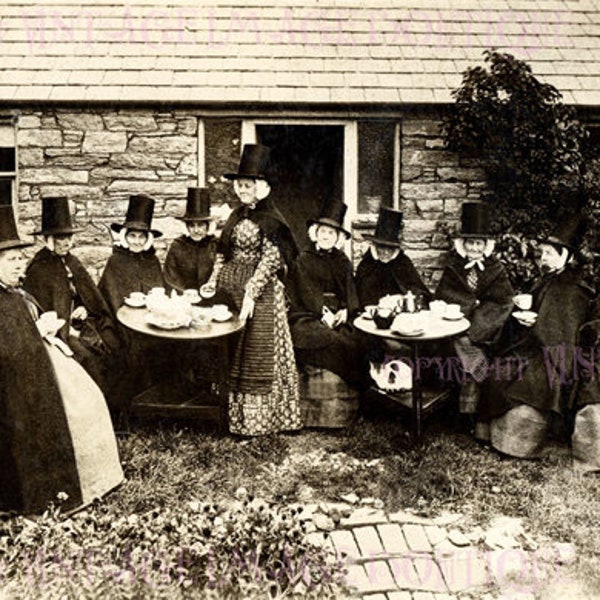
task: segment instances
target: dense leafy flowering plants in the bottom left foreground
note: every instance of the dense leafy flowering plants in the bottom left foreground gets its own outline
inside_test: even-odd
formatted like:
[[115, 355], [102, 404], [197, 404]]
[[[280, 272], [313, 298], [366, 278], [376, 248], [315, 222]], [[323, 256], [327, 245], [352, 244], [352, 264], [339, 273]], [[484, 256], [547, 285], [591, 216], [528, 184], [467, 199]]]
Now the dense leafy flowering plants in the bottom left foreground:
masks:
[[98, 507], [0, 523], [4, 590], [18, 598], [335, 598], [342, 565], [299, 508], [245, 497], [114, 517]]

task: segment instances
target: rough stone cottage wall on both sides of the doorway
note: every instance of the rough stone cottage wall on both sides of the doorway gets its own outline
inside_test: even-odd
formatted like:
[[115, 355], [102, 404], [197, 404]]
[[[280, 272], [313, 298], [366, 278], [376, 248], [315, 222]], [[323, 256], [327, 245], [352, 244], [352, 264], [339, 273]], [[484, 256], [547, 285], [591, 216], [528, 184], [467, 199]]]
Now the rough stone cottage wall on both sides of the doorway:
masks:
[[[204, 118], [191, 110], [22, 109], [21, 231], [27, 234], [39, 227], [42, 196], [67, 196], [77, 223], [85, 227], [74, 252], [98, 277], [111, 252], [108, 226], [123, 221], [129, 195], [144, 193], [157, 200], [154, 225], [165, 235], [156, 245], [163, 259], [170, 240], [184, 230], [175, 217], [183, 212], [187, 188], [197, 185], [199, 119], [204, 127], [206, 185], [213, 202], [233, 205], [231, 185], [221, 176], [237, 168], [240, 119]], [[411, 113], [402, 120], [401, 133], [404, 244], [431, 287], [439, 279], [447, 232], [456, 225], [462, 202], [479, 198], [483, 186], [479, 169], [444, 149], [440, 123], [431, 111]], [[373, 230], [375, 218], [353, 224], [350, 250], [355, 264], [367, 247], [363, 235]]]

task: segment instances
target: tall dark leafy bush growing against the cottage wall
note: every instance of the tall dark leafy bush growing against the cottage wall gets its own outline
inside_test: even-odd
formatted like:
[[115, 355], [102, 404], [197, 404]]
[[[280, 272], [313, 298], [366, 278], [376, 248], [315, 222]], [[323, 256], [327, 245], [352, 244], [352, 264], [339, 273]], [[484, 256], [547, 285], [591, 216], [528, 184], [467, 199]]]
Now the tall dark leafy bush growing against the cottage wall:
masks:
[[525, 286], [536, 273], [539, 238], [566, 215], [585, 211], [582, 142], [586, 130], [560, 92], [534, 77], [510, 54], [484, 52], [485, 67], [465, 71], [444, 119], [447, 147], [475, 157], [494, 206], [497, 249], [513, 283]]

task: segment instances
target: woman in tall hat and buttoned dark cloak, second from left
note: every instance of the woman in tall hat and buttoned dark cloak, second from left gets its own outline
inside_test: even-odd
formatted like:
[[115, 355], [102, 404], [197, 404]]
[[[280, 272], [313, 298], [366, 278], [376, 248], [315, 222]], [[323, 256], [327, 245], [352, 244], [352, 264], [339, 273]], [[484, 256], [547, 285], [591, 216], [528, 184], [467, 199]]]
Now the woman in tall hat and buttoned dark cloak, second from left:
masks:
[[45, 247], [27, 267], [23, 287], [44, 311], [56, 311], [64, 326], [60, 338], [75, 353], [76, 360], [107, 392], [107, 372], [120, 342], [110, 309], [79, 259], [71, 253], [73, 226], [65, 197], [42, 199]]

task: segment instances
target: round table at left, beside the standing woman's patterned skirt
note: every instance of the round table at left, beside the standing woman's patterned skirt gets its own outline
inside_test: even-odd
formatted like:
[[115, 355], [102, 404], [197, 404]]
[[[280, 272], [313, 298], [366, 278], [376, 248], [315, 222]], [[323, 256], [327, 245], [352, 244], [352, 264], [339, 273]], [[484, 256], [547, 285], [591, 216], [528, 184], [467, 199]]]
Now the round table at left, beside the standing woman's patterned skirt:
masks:
[[[201, 389], [199, 382], [190, 380], [183, 372], [174, 373], [173, 379], [161, 381], [139, 393], [131, 401], [131, 411], [136, 415], [201, 418], [217, 420], [223, 427], [227, 414], [229, 392], [229, 341], [233, 334], [241, 331], [245, 323], [236, 314], [228, 321], [210, 321], [201, 327], [178, 327], [160, 329], [147, 321], [147, 308], [123, 305], [117, 311], [118, 321], [128, 329], [142, 335], [160, 338], [169, 342], [200, 343], [214, 348], [215, 381], [208, 380], [208, 389]], [[202, 366], [204, 363], [202, 363]]]

